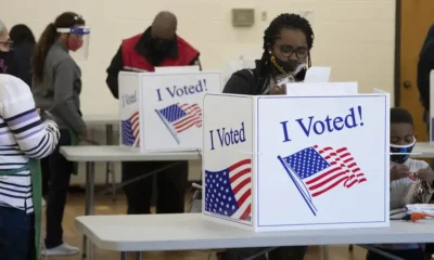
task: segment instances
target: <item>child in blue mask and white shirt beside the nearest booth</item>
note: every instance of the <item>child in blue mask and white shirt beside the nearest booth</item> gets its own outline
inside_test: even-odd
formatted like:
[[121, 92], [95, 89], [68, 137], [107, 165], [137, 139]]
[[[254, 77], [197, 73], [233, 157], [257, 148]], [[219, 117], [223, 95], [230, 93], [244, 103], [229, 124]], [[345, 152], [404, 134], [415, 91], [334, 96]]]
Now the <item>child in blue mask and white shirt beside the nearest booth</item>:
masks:
[[[408, 204], [427, 203], [432, 197], [434, 172], [424, 160], [410, 158], [416, 144], [413, 119], [404, 108], [391, 108], [391, 210], [404, 208]], [[413, 179], [416, 176], [416, 180]], [[419, 187], [422, 185], [422, 193]], [[374, 245], [382, 251], [406, 260], [424, 260], [423, 245], [388, 244]], [[369, 250], [367, 260], [387, 260]]]

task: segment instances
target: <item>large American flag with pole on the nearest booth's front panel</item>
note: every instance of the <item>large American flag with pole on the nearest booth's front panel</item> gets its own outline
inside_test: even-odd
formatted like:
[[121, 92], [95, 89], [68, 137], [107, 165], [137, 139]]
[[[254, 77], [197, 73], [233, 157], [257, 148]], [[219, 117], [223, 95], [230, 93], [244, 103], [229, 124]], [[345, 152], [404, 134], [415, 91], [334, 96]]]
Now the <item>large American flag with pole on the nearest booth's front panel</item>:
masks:
[[279, 156], [279, 159], [314, 214], [314, 197], [339, 185], [349, 188], [367, 181], [346, 147], [314, 145], [283, 158]]

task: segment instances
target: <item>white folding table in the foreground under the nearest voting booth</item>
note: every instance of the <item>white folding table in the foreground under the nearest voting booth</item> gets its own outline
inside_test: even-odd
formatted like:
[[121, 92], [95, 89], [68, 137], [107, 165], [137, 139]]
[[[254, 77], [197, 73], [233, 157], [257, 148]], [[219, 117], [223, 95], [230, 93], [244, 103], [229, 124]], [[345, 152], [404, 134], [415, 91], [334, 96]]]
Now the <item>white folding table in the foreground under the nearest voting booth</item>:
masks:
[[[99, 248], [129, 251], [197, 250], [434, 240], [434, 221], [391, 221], [390, 227], [255, 233], [205, 220], [201, 213], [77, 217], [76, 227]], [[141, 256], [141, 253], [139, 253]]]

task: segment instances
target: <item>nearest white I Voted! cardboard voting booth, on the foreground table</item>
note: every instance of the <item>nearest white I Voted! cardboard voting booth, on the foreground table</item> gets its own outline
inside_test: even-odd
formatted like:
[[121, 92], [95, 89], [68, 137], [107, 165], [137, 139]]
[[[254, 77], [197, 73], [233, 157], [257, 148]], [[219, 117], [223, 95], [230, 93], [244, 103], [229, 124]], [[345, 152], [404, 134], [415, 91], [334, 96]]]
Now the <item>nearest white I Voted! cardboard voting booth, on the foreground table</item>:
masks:
[[203, 120], [204, 218], [256, 232], [388, 226], [388, 93], [209, 93]]

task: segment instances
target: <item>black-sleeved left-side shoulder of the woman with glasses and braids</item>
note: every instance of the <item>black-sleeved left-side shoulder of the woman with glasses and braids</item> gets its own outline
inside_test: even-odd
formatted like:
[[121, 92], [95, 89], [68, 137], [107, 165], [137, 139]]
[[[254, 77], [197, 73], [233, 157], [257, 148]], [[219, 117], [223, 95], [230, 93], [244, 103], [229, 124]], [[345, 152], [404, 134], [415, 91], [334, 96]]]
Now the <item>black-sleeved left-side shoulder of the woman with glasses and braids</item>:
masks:
[[252, 94], [254, 88], [254, 77], [251, 70], [239, 70], [229, 78], [224, 88], [224, 93], [228, 94]]

